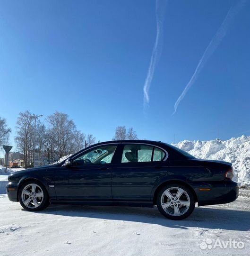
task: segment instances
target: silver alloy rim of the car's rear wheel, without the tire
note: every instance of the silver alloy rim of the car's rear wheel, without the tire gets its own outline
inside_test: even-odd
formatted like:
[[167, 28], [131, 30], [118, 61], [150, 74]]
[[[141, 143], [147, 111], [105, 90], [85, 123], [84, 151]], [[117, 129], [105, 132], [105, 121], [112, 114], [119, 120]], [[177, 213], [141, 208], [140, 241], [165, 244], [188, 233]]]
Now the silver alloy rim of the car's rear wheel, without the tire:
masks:
[[161, 206], [166, 213], [181, 216], [190, 208], [190, 197], [182, 188], [168, 188], [161, 196]]

